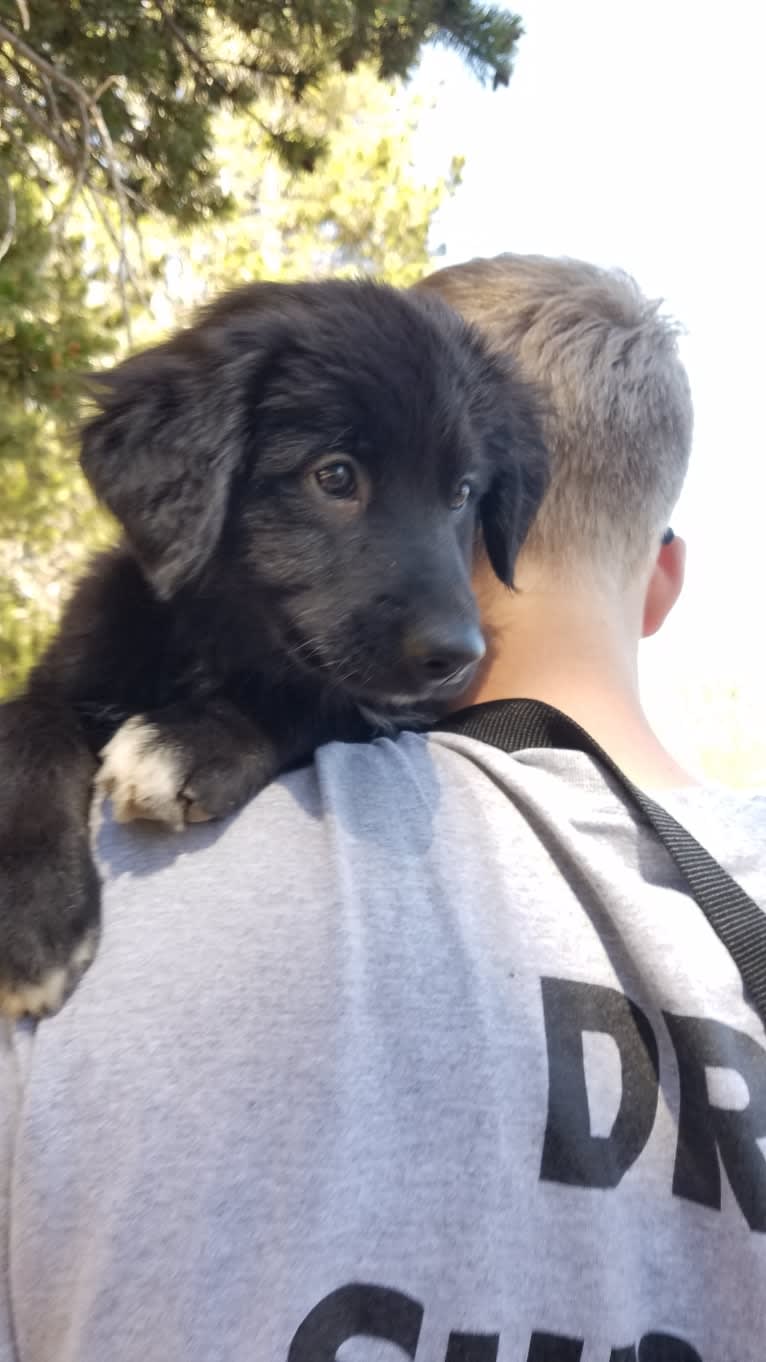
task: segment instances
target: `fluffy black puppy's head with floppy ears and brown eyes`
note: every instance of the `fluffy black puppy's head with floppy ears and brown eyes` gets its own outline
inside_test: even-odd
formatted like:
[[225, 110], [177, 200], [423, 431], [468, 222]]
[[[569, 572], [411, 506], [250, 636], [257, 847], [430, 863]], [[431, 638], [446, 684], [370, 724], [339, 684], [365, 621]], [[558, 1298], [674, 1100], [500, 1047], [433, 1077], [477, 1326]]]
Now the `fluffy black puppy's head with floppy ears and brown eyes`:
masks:
[[240, 647], [417, 706], [482, 651], [542, 496], [529, 391], [440, 300], [255, 285], [104, 380], [83, 467], [157, 594], [232, 602]]

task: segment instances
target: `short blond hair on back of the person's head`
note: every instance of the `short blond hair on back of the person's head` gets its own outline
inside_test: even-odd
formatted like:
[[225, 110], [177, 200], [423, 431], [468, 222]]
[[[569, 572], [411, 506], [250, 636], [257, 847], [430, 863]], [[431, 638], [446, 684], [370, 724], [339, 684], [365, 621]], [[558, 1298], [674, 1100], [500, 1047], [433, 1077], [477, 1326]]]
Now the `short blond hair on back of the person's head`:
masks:
[[527, 550], [634, 572], [660, 542], [691, 452], [679, 327], [627, 274], [502, 255], [429, 275], [542, 400], [551, 486]]

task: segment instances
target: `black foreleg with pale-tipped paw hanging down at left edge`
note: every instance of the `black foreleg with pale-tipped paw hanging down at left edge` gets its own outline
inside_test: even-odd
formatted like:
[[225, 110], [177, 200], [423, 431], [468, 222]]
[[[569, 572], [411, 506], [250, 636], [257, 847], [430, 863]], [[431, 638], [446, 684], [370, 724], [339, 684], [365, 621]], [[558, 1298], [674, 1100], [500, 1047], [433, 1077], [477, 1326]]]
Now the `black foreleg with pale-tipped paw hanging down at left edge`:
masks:
[[90, 854], [95, 757], [75, 712], [40, 695], [0, 706], [0, 1012], [45, 1016], [98, 945]]

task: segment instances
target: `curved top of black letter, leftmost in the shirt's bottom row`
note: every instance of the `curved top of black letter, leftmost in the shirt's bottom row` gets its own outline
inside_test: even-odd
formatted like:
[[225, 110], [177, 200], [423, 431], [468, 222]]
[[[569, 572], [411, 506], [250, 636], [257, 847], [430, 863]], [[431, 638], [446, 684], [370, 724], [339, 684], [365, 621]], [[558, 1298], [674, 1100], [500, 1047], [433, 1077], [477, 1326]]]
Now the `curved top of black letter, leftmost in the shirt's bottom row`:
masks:
[[331, 1291], [307, 1314], [290, 1343], [288, 1362], [335, 1362], [349, 1339], [372, 1337], [398, 1343], [414, 1358], [423, 1325], [423, 1306], [402, 1291], [352, 1283]]

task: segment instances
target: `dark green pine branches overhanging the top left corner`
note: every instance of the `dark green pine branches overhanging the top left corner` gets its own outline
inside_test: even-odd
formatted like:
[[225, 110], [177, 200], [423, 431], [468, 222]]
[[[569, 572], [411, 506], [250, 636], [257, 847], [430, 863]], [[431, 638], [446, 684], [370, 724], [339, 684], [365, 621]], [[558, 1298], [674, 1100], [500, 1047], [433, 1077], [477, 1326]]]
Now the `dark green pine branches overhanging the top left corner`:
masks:
[[506, 84], [519, 34], [476, 0], [0, 0], [0, 132], [25, 174], [44, 148], [95, 204], [188, 225], [232, 204], [218, 110], [247, 113], [264, 148], [311, 170], [327, 142], [296, 113], [328, 76], [405, 78], [439, 41]]

